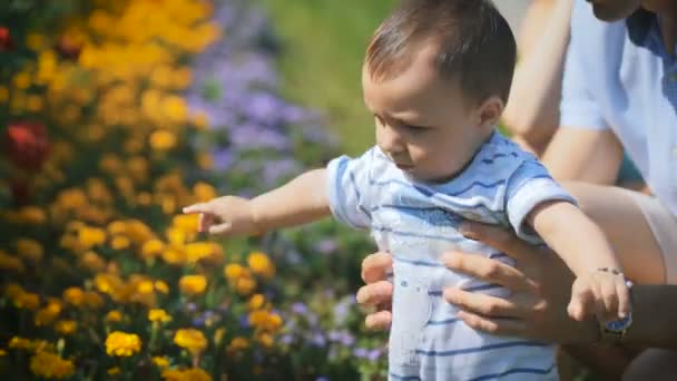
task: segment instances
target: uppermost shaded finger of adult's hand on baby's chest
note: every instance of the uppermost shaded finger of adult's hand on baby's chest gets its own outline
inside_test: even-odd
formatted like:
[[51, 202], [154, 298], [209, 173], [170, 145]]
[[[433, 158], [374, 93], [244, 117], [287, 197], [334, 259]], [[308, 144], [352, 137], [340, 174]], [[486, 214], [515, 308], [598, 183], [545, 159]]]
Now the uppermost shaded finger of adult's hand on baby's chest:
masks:
[[534, 251], [533, 246], [518, 238], [513, 233], [494, 225], [465, 222], [460, 229], [465, 237], [481, 241], [518, 260], [518, 262], [529, 258], [529, 253]]

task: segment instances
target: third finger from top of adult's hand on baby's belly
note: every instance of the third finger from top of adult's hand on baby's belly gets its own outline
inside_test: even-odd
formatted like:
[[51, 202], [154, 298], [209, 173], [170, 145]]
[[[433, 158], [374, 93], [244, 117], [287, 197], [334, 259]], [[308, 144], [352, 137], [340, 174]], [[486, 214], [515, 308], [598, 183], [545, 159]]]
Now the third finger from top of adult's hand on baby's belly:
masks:
[[502, 299], [460, 289], [444, 290], [444, 300], [460, 310], [492, 318], [526, 318], [530, 307], [513, 299]]

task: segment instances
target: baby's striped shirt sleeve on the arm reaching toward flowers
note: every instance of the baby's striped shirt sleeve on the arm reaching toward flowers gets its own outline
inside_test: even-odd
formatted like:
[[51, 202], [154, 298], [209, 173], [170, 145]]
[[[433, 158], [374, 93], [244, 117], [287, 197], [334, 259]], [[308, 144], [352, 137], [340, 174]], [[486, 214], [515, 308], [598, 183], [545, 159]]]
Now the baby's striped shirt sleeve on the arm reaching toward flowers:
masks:
[[341, 156], [327, 164], [327, 194], [332, 214], [352, 227], [366, 229], [371, 225], [369, 211], [369, 174], [373, 149], [359, 158]]

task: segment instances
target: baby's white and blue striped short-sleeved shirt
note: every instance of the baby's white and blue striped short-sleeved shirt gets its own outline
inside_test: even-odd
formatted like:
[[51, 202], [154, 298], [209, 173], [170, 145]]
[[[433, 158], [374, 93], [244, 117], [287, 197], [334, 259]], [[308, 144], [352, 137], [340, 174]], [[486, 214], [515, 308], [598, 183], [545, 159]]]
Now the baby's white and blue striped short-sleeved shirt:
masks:
[[557, 379], [552, 346], [477, 332], [442, 297], [445, 286], [507, 295], [498, 285], [455, 274], [441, 263], [441, 253], [453, 248], [514, 264], [463, 237], [461, 222], [511, 227], [523, 240], [540, 243], [524, 223], [529, 213], [547, 201], [575, 202], [531, 154], [494, 131], [455, 178], [429, 184], [411, 178], [373, 147], [355, 159], [332, 160], [327, 192], [337, 219], [370, 229], [379, 248], [393, 255], [390, 379]]

